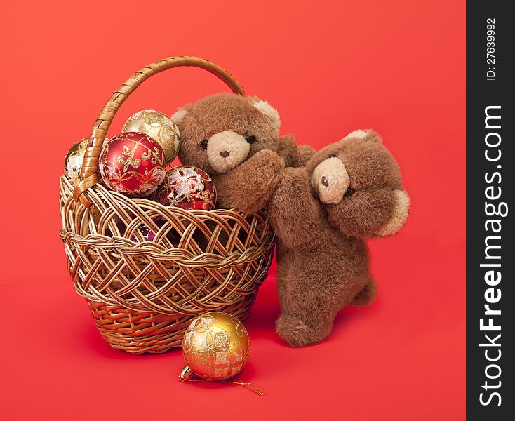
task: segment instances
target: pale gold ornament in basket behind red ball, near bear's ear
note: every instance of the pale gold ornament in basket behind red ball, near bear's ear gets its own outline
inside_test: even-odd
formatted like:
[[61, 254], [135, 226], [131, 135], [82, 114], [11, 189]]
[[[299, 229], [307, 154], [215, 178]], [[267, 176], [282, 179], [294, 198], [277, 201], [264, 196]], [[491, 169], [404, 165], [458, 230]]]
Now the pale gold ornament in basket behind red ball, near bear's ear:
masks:
[[167, 164], [173, 161], [179, 152], [179, 128], [162, 112], [153, 109], [139, 111], [128, 118], [121, 132], [149, 135], [163, 148]]

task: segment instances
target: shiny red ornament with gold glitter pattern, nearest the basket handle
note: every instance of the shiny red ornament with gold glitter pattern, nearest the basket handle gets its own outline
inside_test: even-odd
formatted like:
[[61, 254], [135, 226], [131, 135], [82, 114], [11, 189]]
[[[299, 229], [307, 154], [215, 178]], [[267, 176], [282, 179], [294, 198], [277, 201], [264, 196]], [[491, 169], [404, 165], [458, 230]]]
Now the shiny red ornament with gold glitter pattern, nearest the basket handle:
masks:
[[163, 148], [145, 133], [127, 132], [109, 140], [100, 153], [98, 168], [115, 192], [147, 196], [166, 175]]

